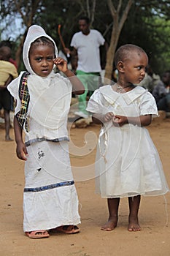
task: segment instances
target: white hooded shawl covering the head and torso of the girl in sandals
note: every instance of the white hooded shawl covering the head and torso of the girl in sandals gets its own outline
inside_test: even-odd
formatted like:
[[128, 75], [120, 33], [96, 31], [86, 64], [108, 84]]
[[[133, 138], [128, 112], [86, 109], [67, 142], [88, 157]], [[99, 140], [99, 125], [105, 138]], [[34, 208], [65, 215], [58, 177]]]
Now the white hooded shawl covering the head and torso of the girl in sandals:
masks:
[[[36, 131], [36, 133], [41, 133], [41, 135], [37, 136], [49, 138], [50, 135], [47, 135], [47, 133], [51, 129], [53, 129], [53, 132], [55, 130], [58, 132], [58, 129], [63, 129], [63, 126], [66, 124], [72, 98], [72, 83], [70, 83], [69, 79], [63, 78], [59, 73], [55, 74], [53, 70], [47, 77], [41, 77], [36, 75], [33, 69], [31, 69], [28, 58], [31, 43], [43, 36], [50, 39], [55, 45], [54, 40], [45, 33], [42, 27], [33, 25], [28, 29], [26, 41], [23, 45], [23, 61], [27, 71], [30, 73], [28, 75], [30, 102], [27, 116], [34, 119], [42, 127], [43, 132], [40, 132], [40, 130]], [[58, 49], [55, 45], [55, 55], [57, 56], [57, 54]], [[19, 78], [13, 80], [8, 86], [12, 96], [18, 102], [15, 113], [20, 110], [20, 99], [18, 99], [17, 88], [19, 87], [22, 73]], [[32, 132], [29, 131], [29, 133]]]

